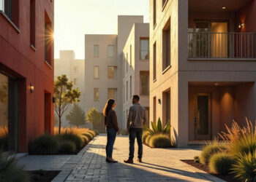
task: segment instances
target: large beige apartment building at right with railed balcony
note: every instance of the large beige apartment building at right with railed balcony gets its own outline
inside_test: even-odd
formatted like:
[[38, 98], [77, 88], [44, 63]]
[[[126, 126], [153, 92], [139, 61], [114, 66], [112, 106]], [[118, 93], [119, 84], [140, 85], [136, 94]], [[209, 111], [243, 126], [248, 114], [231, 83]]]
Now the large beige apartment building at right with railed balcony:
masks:
[[178, 147], [256, 119], [256, 1], [150, 1], [150, 118]]

